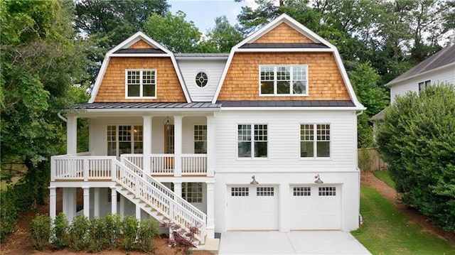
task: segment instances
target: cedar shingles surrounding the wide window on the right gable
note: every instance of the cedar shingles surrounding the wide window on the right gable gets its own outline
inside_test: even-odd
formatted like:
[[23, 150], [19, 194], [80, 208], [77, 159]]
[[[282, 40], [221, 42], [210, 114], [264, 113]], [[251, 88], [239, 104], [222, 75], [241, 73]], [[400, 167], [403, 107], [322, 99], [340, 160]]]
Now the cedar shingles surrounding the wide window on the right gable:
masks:
[[[308, 65], [308, 96], [260, 96], [259, 65]], [[235, 53], [218, 101], [350, 100], [333, 53]]]

